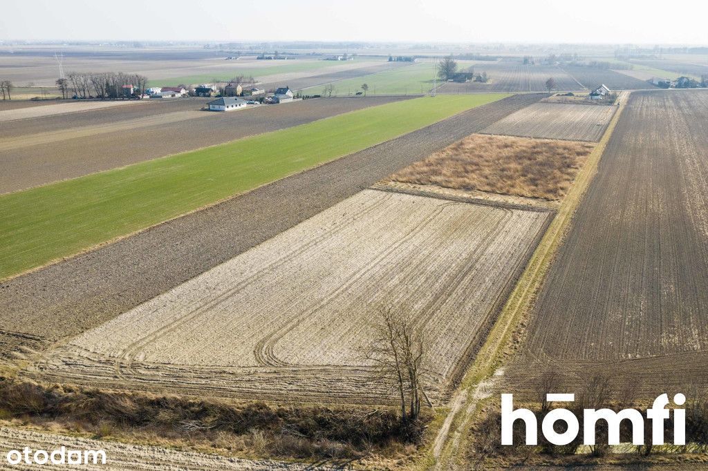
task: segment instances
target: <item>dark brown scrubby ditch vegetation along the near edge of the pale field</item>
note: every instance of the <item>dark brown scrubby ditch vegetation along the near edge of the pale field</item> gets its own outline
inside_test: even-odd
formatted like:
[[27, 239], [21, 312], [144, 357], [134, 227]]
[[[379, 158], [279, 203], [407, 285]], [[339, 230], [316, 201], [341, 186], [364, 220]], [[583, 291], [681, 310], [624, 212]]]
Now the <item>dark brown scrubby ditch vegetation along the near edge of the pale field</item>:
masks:
[[227, 402], [0, 379], [0, 419], [224, 455], [336, 460], [412, 453], [431, 417], [423, 411], [401, 423], [385, 407]]

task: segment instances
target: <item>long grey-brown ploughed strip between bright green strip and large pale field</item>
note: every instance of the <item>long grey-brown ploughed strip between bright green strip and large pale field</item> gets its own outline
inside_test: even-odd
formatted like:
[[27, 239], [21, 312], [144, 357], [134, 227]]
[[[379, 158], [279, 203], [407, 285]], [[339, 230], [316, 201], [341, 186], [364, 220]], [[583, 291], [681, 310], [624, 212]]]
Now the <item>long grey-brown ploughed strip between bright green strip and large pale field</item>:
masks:
[[[101, 325], [535, 103], [516, 95], [0, 284], [0, 357]], [[11, 353], [14, 352], [14, 353]]]

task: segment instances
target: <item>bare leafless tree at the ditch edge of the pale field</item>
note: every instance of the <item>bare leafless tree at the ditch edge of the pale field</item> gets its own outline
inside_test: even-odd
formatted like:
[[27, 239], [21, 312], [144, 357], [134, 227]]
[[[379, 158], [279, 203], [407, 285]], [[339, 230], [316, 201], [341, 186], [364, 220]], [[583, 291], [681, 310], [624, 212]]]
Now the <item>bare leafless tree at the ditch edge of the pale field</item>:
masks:
[[376, 366], [376, 382], [389, 383], [401, 401], [401, 421], [416, 419], [421, 412], [421, 395], [430, 405], [421, 373], [425, 355], [423, 335], [402, 310], [382, 308], [374, 337], [365, 351]]

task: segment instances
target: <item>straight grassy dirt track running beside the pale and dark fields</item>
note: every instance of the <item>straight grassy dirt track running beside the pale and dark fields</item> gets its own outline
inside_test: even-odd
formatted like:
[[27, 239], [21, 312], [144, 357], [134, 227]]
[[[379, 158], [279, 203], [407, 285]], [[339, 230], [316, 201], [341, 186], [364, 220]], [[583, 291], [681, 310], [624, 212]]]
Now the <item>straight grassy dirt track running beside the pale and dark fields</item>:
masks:
[[479, 396], [479, 387], [484, 380], [488, 380], [494, 375], [505, 359], [513, 354], [515, 349], [510, 345], [510, 340], [515, 327], [530, 313], [551, 262], [569, 231], [573, 214], [588, 190], [590, 182], [598, 172], [600, 158], [615, 130], [619, 117], [622, 115], [629, 94], [629, 91], [623, 91], [617, 98], [619, 101], [618, 110], [612, 116], [610, 124], [607, 125], [603, 138], [600, 139], [598, 145], [590, 153], [586, 165], [578, 173], [570, 192], [561, 202], [556, 216], [542, 236], [523, 274], [501, 310], [484, 346], [477, 354], [474, 363], [467, 369], [462, 384], [450, 401], [450, 412], [435, 437], [428, 457], [424, 463], [421, 463], [424, 468], [455, 469], [460, 464], [457, 454], [459, 450], [464, 448], [460, 445], [466, 441], [465, 434], [469, 431], [469, 426], [474, 419], [478, 405], [476, 397]]

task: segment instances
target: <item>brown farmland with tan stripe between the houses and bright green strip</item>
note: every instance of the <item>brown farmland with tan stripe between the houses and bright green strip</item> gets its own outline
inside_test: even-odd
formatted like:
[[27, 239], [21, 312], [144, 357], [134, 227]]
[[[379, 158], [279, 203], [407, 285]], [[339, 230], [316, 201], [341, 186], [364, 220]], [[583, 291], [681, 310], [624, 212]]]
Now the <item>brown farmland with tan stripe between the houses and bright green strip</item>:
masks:
[[[135, 107], [136, 112], [116, 113], [115, 117], [110, 115], [110, 110], [46, 117], [38, 120], [38, 124], [41, 123], [47, 131], [35, 134], [30, 132], [34, 120], [16, 122], [13, 133], [21, 135], [0, 138], [0, 165], [3, 168], [0, 193], [222, 144], [403, 99], [322, 98], [232, 112], [198, 111], [206, 100], [184, 99], [171, 103], [146, 103]], [[128, 108], [132, 107], [122, 107], [121, 111]], [[97, 115], [92, 120], [94, 112]]]

